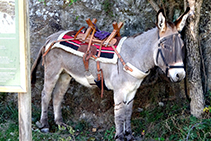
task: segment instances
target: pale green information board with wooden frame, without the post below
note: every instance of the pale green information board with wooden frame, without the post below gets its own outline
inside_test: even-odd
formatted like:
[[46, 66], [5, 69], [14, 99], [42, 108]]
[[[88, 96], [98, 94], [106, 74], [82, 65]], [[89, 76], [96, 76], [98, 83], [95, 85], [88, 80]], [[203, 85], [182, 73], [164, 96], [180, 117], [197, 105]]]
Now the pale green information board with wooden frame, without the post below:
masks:
[[23, 0], [0, 0], [0, 92], [26, 92], [26, 19]]

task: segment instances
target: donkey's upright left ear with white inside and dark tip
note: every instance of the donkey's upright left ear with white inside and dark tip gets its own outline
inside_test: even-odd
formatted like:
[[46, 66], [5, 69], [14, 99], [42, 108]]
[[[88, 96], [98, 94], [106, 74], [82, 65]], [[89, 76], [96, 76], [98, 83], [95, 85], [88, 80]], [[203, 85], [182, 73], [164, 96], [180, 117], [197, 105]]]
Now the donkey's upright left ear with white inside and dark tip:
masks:
[[156, 23], [158, 29], [163, 32], [166, 30], [166, 17], [164, 15], [164, 10], [160, 9], [157, 13], [157, 23]]

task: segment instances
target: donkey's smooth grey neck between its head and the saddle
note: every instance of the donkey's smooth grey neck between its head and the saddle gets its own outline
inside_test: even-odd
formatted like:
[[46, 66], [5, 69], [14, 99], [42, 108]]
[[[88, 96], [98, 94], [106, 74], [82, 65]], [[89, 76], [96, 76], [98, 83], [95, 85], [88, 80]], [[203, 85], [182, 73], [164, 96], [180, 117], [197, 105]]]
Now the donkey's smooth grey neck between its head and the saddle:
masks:
[[157, 33], [158, 29], [153, 28], [141, 35], [126, 39], [121, 51], [123, 59], [143, 72], [153, 68], [157, 51]]

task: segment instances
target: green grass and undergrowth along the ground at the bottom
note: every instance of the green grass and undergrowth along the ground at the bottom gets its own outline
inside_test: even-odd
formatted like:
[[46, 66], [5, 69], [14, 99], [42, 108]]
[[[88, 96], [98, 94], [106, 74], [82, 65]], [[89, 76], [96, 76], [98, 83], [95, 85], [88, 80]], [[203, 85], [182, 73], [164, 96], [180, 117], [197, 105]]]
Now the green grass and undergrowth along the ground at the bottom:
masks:
[[[4, 102], [5, 95], [0, 97], [0, 141], [18, 141], [18, 107], [14, 101]], [[144, 140], [158, 141], [211, 141], [211, 108], [205, 109], [202, 118], [190, 115], [188, 103], [178, 104], [175, 101], [167, 102], [164, 107], [153, 105], [140, 113], [134, 113], [131, 121], [135, 137], [143, 136]], [[35, 121], [39, 119], [40, 110], [32, 105], [32, 139], [33, 141], [112, 141], [115, 127], [106, 131], [92, 131], [86, 121], [73, 123], [64, 117], [67, 129], [58, 128], [50, 121], [51, 132], [41, 133]]]

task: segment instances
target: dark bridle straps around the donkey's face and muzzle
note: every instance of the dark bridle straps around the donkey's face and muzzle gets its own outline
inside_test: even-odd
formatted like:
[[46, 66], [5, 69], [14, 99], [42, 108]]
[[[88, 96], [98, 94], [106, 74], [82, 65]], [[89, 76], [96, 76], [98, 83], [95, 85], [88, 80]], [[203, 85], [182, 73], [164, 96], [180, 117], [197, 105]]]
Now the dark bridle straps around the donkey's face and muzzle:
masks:
[[[175, 69], [175, 68], [184, 68], [184, 65], [181, 65], [181, 66], [172, 66], [172, 65], [169, 65], [169, 64], [167, 63], [167, 61], [166, 61], [165, 56], [163, 55], [161, 44], [163, 44], [163, 42], [166, 41], [167, 39], [170, 39], [172, 36], [173, 36], [173, 39], [174, 39], [175, 36], [176, 36], [176, 37], [180, 37], [180, 34], [176, 33], [176, 34], [172, 34], [172, 35], [166, 36], [166, 37], [162, 38], [162, 39], [160, 40], [160, 43], [158, 44], [158, 52], [157, 52], [156, 62], [157, 62], [157, 64], [158, 64], [158, 57], [159, 57], [159, 54], [160, 54], [160, 55], [161, 55], [161, 58], [162, 58], [162, 60], [163, 60], [163, 62], [164, 62], [165, 65], [166, 65], [166, 76], [168, 76], [168, 71], [169, 71], [169, 69], [171, 69], [171, 68], [173, 68], [173, 69]], [[158, 33], [158, 39], [159, 39], [159, 38], [160, 38], [160, 37], [159, 37], [159, 33]], [[172, 46], [173, 46], [174, 48], [176, 48], [176, 46], [175, 46], [175, 40], [173, 40], [173, 45], [172, 45]], [[177, 52], [175, 52], [175, 56], [176, 56], [176, 53], [177, 53]], [[176, 57], [175, 57], [175, 62], [176, 62]]]

